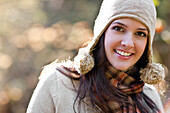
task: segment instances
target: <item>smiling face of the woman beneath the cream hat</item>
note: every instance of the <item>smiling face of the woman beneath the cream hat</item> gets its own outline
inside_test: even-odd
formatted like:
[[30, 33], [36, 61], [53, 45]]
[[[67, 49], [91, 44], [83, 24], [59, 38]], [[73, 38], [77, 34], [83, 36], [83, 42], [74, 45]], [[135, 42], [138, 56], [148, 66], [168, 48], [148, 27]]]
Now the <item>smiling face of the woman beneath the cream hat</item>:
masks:
[[127, 70], [144, 53], [148, 35], [148, 29], [135, 19], [121, 18], [113, 21], [104, 39], [108, 61], [118, 70]]

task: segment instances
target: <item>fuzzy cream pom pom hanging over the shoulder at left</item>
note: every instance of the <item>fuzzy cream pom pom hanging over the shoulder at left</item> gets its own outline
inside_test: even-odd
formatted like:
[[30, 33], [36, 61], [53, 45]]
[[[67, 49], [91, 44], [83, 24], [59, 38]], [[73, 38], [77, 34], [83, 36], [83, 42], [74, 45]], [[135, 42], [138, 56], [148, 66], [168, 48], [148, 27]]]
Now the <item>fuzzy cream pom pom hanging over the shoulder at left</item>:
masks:
[[80, 74], [86, 74], [94, 67], [94, 58], [85, 50], [79, 49], [78, 55], [74, 58], [74, 68]]

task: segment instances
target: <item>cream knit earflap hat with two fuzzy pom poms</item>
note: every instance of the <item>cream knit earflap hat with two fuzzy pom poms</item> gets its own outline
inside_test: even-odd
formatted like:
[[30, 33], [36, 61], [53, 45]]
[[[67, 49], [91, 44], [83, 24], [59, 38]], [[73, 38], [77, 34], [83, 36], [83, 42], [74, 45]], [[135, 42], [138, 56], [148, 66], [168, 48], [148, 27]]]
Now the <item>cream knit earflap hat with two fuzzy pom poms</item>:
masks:
[[88, 73], [94, 67], [92, 50], [108, 26], [119, 18], [133, 18], [143, 23], [149, 30], [147, 56], [149, 63], [141, 69], [141, 79], [145, 83], [156, 84], [165, 77], [164, 68], [152, 63], [152, 42], [155, 34], [156, 9], [153, 0], [103, 0], [94, 25], [94, 37], [87, 47], [80, 48], [74, 58], [74, 68], [80, 74]]

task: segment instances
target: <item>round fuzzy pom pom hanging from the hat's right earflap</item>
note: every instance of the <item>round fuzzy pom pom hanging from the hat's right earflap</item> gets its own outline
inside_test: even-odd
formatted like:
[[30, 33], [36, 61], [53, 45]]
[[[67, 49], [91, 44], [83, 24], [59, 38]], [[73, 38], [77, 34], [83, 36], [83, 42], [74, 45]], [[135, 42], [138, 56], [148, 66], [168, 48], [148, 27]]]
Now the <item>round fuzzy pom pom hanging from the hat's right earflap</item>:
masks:
[[164, 68], [158, 63], [149, 63], [140, 73], [141, 80], [148, 84], [158, 84], [165, 78]]

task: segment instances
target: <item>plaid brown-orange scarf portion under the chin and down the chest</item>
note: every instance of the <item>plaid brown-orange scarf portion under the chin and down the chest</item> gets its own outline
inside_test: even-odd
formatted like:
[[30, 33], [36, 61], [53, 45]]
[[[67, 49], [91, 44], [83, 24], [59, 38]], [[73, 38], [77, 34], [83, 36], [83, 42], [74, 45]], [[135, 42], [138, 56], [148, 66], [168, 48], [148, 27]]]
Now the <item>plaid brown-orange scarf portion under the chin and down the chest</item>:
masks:
[[143, 90], [144, 83], [142, 81], [136, 81], [133, 77], [129, 76], [128, 73], [130, 73], [130, 71], [122, 72], [116, 70], [111, 65], [108, 65], [106, 68], [105, 74], [107, 79], [110, 81], [110, 84], [119, 91], [127, 94], [128, 101], [131, 103], [127, 104], [117, 101], [109, 101], [108, 104], [112, 113], [134, 113], [132, 105], [136, 108], [135, 112], [140, 113], [130, 95], [139, 94]]

